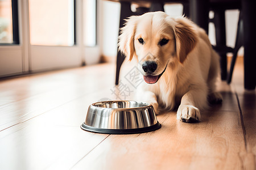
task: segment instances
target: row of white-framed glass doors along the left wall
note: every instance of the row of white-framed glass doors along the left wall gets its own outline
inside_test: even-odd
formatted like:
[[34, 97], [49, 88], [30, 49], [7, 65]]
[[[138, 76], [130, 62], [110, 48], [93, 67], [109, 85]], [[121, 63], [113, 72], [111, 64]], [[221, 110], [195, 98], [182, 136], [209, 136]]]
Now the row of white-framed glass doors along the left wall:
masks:
[[0, 77], [98, 63], [96, 5], [96, 0], [1, 0]]

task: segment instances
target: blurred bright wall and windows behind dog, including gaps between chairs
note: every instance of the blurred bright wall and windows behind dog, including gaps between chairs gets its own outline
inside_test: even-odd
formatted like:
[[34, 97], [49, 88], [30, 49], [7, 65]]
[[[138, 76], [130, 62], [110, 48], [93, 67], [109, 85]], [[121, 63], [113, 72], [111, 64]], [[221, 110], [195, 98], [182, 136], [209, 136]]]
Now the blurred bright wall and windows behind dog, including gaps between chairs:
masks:
[[[180, 16], [183, 5], [167, 4], [164, 11]], [[226, 45], [232, 48], [239, 12], [225, 11]], [[0, 0], [0, 77], [115, 62], [119, 15], [120, 4], [111, 1]], [[213, 45], [214, 29], [209, 23]]]

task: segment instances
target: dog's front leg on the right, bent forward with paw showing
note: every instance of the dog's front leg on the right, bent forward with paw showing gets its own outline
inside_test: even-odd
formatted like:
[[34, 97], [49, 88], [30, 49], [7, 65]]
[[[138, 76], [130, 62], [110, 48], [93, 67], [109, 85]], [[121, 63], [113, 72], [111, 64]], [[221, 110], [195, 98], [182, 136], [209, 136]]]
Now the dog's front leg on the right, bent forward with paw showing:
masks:
[[199, 108], [207, 106], [207, 87], [192, 88], [182, 98], [177, 110], [177, 119], [184, 122], [200, 120]]

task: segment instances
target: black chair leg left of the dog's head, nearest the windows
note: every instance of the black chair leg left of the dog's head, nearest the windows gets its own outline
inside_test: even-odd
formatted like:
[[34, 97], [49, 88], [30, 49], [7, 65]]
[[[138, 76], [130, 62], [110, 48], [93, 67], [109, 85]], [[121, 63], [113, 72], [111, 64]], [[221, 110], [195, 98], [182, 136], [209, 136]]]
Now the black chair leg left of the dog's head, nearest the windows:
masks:
[[[121, 11], [120, 11], [120, 22], [119, 28], [123, 27], [125, 20], [127, 17], [131, 16], [133, 12], [131, 11], [131, 3], [130, 2], [120, 2], [121, 3]], [[120, 35], [120, 30], [119, 30]], [[125, 60], [125, 56], [117, 50], [117, 70], [115, 72], [115, 85], [118, 85], [119, 82], [119, 73], [122, 66], [123, 61]]]

